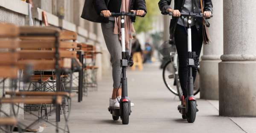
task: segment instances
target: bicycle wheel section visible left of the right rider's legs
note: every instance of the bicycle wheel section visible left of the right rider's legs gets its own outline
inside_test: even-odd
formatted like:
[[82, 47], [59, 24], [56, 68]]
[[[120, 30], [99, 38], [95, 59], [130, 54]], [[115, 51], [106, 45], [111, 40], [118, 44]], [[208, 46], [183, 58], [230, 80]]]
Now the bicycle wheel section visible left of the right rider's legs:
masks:
[[166, 85], [166, 87], [169, 89], [169, 91], [171, 91], [172, 93], [178, 96], [177, 89], [174, 88], [174, 85], [175, 85], [174, 78], [175, 78], [174, 67], [173, 67], [172, 61], [170, 60], [163, 67], [163, 82]]

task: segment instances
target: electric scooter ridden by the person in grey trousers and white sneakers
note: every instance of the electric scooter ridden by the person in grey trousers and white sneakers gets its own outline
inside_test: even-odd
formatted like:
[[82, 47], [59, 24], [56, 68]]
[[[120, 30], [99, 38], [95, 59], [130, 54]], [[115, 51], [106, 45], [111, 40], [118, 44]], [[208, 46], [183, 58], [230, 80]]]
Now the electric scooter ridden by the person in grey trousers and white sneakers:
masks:
[[[104, 15], [100, 14], [100, 16], [103, 17]], [[113, 120], [118, 120], [120, 116], [120, 118], [122, 119], [122, 124], [128, 125], [129, 116], [131, 115], [131, 101], [128, 97], [126, 69], [127, 67], [133, 66], [134, 62], [132, 60], [132, 57], [130, 56], [130, 53], [125, 51], [125, 16], [135, 17], [136, 12], [111, 13], [111, 17], [121, 17], [122, 59], [120, 60], [120, 65], [122, 67], [122, 96], [119, 101], [119, 108], [109, 107], [108, 111], [112, 114]]]

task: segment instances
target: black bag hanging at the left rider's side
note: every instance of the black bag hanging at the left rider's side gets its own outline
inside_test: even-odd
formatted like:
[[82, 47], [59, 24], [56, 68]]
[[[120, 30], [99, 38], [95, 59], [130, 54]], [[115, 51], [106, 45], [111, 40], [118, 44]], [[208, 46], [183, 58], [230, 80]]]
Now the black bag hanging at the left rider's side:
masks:
[[100, 17], [95, 8], [95, 0], [85, 0], [81, 18], [96, 23], [108, 23], [108, 18]]

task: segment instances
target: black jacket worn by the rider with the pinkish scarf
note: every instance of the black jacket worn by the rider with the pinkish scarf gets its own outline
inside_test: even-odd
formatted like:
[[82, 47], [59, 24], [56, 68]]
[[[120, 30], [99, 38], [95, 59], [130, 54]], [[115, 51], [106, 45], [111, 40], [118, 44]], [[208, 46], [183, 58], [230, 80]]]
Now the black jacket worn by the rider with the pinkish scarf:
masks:
[[[98, 14], [103, 10], [108, 10], [109, 0], [95, 0], [95, 8]], [[145, 0], [131, 0], [130, 1], [130, 10], [144, 10], [147, 12]], [[144, 16], [143, 16], [144, 17]], [[136, 17], [131, 17], [131, 21], [135, 22]]]

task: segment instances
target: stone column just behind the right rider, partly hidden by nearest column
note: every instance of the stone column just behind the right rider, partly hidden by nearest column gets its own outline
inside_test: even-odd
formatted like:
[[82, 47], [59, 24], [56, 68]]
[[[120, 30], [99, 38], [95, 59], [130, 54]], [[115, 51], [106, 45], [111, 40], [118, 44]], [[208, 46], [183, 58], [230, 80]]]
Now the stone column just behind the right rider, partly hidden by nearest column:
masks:
[[218, 63], [223, 54], [223, 0], [213, 0], [213, 17], [209, 19], [212, 42], [204, 45], [200, 64], [200, 98], [218, 99]]

